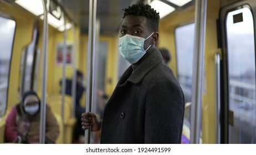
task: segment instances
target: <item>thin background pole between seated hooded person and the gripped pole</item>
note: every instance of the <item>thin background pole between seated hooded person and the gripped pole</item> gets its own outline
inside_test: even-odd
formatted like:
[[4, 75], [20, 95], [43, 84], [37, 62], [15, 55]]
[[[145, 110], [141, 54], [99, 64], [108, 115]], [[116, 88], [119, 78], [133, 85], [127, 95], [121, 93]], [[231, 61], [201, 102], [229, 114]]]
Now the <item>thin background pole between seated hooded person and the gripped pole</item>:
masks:
[[65, 105], [65, 94], [66, 94], [66, 19], [65, 15], [62, 12], [62, 16], [64, 19], [64, 32], [63, 32], [63, 55], [62, 55], [62, 63], [63, 63], [63, 71], [62, 71], [62, 120], [63, 120], [63, 137], [65, 139], [65, 128], [64, 128], [64, 105]]

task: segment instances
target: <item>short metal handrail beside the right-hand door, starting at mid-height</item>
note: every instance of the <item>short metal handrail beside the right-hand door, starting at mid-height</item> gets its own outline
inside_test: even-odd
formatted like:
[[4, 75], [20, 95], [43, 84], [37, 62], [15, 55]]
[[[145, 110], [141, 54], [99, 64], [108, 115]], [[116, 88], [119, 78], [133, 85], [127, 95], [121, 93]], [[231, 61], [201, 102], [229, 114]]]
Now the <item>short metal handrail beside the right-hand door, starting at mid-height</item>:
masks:
[[215, 61], [215, 139], [216, 143], [221, 143], [221, 64], [220, 64], [220, 56], [217, 53], [214, 57]]

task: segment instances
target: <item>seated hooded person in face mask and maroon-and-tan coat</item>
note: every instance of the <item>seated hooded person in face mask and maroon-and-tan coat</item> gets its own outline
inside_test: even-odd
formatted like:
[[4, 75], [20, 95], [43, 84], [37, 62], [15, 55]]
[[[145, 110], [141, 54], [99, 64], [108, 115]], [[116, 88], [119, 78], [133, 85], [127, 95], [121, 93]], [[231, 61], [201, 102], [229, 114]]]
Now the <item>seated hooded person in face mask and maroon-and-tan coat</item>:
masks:
[[[8, 142], [39, 143], [39, 133], [40, 100], [34, 91], [28, 91], [22, 96], [22, 101], [9, 113], [5, 136]], [[45, 143], [55, 143], [58, 135], [57, 120], [47, 105]]]

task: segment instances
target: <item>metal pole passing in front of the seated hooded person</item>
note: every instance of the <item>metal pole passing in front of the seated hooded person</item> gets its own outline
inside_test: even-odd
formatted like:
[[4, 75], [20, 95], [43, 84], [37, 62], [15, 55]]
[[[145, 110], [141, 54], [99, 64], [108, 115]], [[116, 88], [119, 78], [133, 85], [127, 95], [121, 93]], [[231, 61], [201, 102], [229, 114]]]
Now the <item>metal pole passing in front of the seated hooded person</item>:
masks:
[[46, 0], [42, 0], [44, 8], [43, 22], [43, 59], [42, 59], [42, 96], [40, 105], [40, 143], [45, 143], [45, 115], [46, 115], [46, 88], [47, 88], [47, 53], [48, 53], [48, 8]]

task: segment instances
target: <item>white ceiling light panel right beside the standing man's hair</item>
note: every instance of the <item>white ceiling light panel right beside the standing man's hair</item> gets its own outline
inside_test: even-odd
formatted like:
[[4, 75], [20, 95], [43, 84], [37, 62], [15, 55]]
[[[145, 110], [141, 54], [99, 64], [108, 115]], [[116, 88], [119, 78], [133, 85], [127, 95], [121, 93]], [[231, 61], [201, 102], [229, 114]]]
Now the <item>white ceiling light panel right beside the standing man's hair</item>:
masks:
[[170, 14], [171, 12], [175, 11], [175, 8], [172, 6], [169, 6], [166, 3], [163, 3], [159, 0], [154, 0], [150, 3], [150, 6], [156, 10], [156, 12], [159, 12], [160, 18], [165, 17], [167, 14]]

